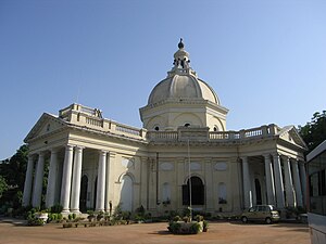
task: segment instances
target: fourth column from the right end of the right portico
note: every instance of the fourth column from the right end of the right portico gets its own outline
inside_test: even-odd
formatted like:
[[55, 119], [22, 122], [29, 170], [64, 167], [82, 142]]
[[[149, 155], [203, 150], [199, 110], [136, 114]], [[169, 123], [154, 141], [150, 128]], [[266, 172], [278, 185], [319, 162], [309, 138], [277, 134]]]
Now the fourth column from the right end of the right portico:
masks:
[[275, 190], [276, 190], [276, 206], [278, 208], [285, 207], [284, 197], [284, 183], [280, 168], [279, 155], [276, 153], [273, 155], [274, 172], [275, 172]]

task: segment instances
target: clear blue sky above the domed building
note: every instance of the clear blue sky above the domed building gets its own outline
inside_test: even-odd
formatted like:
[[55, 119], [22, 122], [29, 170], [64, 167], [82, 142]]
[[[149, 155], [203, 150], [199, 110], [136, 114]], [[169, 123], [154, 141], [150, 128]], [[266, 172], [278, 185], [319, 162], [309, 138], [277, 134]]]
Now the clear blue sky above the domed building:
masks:
[[326, 110], [325, 13], [324, 0], [0, 0], [0, 159], [72, 103], [140, 128], [179, 38], [227, 130], [304, 126]]

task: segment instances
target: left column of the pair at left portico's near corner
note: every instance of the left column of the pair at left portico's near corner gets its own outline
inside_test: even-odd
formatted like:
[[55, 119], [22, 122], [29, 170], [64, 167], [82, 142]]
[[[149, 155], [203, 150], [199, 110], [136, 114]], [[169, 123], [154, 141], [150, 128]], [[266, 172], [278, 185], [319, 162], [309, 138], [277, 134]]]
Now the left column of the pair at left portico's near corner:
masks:
[[62, 213], [70, 213], [73, 152], [74, 152], [74, 146], [66, 145], [63, 170], [62, 170], [61, 201], [60, 201], [61, 205], [63, 206]]

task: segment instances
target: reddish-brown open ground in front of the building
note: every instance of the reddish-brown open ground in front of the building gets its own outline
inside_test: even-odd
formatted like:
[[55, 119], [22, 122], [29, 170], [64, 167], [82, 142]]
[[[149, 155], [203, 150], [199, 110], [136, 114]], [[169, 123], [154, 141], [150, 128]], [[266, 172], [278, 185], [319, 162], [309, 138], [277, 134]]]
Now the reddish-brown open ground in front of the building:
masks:
[[0, 243], [113, 243], [113, 244], [308, 244], [306, 224], [242, 224], [241, 222], [211, 222], [209, 232], [197, 235], [173, 235], [166, 223], [141, 223], [114, 227], [68, 228], [62, 224], [26, 227], [8, 219], [0, 220]]

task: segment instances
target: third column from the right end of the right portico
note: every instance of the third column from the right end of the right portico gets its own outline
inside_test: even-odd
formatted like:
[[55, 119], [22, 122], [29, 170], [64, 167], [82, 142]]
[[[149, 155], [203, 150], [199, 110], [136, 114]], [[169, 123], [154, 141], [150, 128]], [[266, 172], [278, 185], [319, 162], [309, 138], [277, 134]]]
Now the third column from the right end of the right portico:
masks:
[[296, 200], [294, 200], [294, 192], [293, 192], [293, 181], [291, 175], [291, 167], [290, 167], [290, 159], [288, 156], [283, 155], [283, 165], [284, 165], [284, 178], [285, 178], [285, 190], [286, 190], [286, 202], [287, 206], [294, 207]]

